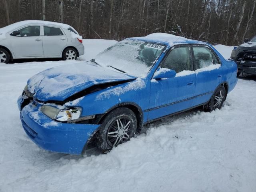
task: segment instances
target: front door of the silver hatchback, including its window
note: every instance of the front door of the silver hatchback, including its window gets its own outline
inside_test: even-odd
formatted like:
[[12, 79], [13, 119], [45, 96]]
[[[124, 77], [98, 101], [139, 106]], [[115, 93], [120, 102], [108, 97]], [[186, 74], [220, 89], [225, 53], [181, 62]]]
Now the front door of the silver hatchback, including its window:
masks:
[[23, 27], [10, 34], [12, 50], [15, 57], [43, 57], [41, 26]]

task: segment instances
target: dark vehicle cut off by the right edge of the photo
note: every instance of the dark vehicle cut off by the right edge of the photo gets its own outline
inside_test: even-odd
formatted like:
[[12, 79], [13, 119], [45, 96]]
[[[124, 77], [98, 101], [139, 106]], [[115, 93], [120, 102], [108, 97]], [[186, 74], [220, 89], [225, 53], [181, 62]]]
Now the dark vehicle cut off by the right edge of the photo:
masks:
[[234, 47], [230, 59], [237, 64], [237, 76], [241, 72], [256, 75], [256, 36], [251, 40], [245, 39], [244, 44]]

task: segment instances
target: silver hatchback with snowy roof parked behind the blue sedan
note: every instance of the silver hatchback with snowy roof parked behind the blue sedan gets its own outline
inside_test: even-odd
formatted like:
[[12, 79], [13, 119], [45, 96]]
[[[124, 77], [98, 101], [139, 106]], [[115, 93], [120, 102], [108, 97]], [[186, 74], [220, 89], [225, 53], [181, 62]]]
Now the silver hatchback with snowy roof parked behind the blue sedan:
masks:
[[0, 63], [23, 58], [71, 60], [83, 54], [82, 36], [67, 24], [26, 20], [0, 28]]

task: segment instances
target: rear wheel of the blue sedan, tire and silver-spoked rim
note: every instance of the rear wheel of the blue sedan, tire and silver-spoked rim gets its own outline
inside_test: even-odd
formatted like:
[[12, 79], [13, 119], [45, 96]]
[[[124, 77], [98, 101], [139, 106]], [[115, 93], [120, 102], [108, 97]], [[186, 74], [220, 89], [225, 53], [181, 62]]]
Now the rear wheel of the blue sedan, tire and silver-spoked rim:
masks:
[[220, 109], [226, 98], [226, 89], [224, 86], [220, 86], [212, 95], [208, 104], [204, 106], [205, 112], [212, 112], [216, 108]]

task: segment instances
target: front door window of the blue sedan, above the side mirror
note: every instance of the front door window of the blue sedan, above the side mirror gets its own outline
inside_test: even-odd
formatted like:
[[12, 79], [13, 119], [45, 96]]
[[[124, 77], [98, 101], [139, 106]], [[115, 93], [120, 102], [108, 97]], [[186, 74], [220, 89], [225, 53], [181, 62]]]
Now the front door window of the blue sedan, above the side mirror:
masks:
[[162, 62], [161, 67], [174, 70], [176, 73], [191, 70], [190, 58], [189, 46], [174, 48]]

